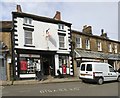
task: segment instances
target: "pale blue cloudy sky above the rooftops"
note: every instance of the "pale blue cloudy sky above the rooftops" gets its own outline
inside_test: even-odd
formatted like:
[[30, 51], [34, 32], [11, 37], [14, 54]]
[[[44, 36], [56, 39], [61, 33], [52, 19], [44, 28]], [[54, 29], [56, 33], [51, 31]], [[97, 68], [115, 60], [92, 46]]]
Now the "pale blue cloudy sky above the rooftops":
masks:
[[12, 11], [20, 4], [25, 13], [53, 18], [61, 12], [63, 21], [72, 23], [72, 29], [82, 31], [84, 25], [92, 26], [93, 35], [101, 29], [109, 39], [118, 37], [118, 0], [1, 0], [0, 20], [12, 20]]

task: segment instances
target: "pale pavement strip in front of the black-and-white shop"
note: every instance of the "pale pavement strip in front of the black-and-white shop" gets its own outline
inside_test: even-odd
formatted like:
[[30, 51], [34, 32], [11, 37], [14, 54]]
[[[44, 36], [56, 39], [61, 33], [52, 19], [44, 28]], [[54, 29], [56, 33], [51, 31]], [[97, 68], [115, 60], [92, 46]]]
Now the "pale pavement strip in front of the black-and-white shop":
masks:
[[79, 77], [65, 77], [65, 78], [53, 78], [53, 77], [47, 77], [46, 79], [42, 81], [38, 81], [36, 79], [29, 79], [29, 80], [15, 80], [15, 81], [1, 81], [1, 86], [9, 86], [9, 85], [20, 85], [20, 84], [39, 84], [39, 83], [62, 83], [62, 82], [77, 82], [81, 81]]

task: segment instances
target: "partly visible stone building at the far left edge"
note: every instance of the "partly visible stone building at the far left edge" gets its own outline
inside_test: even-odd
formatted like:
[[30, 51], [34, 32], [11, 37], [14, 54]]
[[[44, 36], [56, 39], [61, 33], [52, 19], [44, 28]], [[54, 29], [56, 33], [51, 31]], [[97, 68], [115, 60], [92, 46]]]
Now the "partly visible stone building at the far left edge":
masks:
[[12, 21], [0, 21], [0, 80], [11, 80], [12, 49], [11, 49]]

